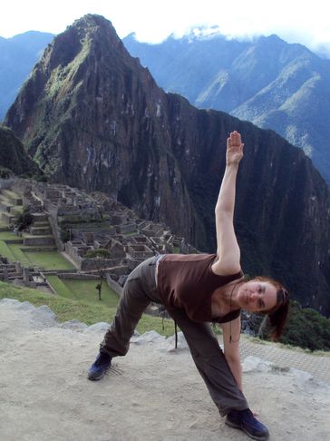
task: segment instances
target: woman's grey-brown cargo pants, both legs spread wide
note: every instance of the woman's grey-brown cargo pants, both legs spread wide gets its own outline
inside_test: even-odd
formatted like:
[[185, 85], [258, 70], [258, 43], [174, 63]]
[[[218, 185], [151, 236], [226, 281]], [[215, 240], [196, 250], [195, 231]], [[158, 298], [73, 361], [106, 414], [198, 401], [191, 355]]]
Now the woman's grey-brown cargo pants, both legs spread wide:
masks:
[[[150, 301], [161, 303], [155, 279], [156, 261], [157, 257], [145, 260], [126, 280], [116, 316], [101, 343], [101, 351], [111, 357], [127, 353], [130, 338]], [[170, 309], [169, 313], [182, 330], [199, 374], [220, 415], [225, 416], [233, 409], [248, 408], [247, 400], [238, 389], [209, 323], [190, 320], [184, 309]]]

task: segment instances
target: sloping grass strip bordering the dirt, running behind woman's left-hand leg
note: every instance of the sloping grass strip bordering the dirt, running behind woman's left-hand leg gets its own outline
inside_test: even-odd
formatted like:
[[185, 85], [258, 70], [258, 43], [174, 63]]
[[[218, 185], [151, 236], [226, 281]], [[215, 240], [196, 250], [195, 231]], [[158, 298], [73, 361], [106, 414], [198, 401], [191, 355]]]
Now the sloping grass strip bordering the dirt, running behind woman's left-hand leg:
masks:
[[[87, 325], [100, 321], [110, 323], [116, 312], [116, 308], [108, 308], [101, 301], [95, 304], [86, 301], [64, 299], [61, 296], [49, 296], [37, 289], [18, 288], [9, 283], [0, 282], [0, 299], [4, 298], [29, 301], [36, 307], [47, 305], [57, 315], [60, 322], [77, 319]], [[161, 335], [168, 337], [174, 334], [174, 324], [172, 320], [165, 319], [163, 329], [162, 319], [143, 314], [137, 330], [140, 333], [155, 330]]]

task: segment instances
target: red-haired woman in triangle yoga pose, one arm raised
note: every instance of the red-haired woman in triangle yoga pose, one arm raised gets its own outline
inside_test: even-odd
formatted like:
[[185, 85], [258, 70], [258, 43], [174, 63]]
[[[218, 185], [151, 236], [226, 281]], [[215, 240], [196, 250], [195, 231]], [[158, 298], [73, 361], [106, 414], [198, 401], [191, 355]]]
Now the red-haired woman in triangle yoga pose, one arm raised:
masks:
[[[111, 328], [89, 379], [101, 379], [112, 357], [127, 353], [130, 338], [150, 301], [162, 303], [189, 344], [191, 356], [209, 394], [228, 426], [264, 440], [267, 427], [248, 408], [242, 391], [239, 360], [240, 310], [267, 314], [272, 336], [280, 337], [287, 316], [287, 292], [272, 279], [246, 281], [240, 268], [240, 250], [233, 217], [238, 164], [243, 157], [238, 132], [227, 141], [226, 171], [216, 206], [218, 250], [215, 254], [168, 254], [141, 263], [126, 281]], [[223, 328], [224, 352], [209, 322]]]

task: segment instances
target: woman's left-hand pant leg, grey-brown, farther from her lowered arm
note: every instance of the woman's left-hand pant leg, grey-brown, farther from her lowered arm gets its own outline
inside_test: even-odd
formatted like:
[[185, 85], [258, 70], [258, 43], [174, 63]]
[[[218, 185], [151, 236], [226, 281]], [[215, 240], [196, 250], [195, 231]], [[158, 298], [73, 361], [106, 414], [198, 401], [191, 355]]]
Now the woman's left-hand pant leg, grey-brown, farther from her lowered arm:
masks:
[[101, 352], [111, 357], [124, 356], [142, 313], [150, 301], [158, 301], [153, 257], [136, 267], [126, 280], [112, 324], [101, 343]]

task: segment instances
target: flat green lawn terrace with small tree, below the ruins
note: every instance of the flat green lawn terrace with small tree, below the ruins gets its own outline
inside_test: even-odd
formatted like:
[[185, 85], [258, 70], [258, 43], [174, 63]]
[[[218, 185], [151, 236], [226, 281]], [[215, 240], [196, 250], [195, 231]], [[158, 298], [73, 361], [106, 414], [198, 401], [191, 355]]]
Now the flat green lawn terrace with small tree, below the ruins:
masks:
[[47, 279], [57, 294], [65, 299], [96, 304], [102, 302], [108, 308], [116, 308], [118, 305], [118, 295], [104, 281], [102, 283], [102, 300], [99, 300], [98, 290], [95, 289], [99, 280], [60, 279], [57, 276], [48, 276]]

